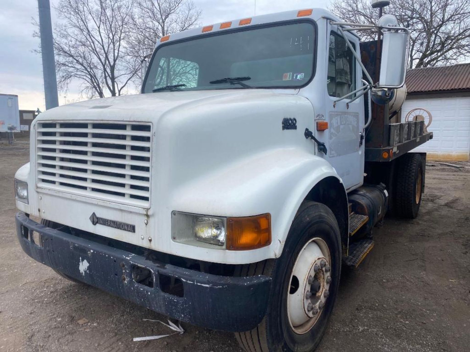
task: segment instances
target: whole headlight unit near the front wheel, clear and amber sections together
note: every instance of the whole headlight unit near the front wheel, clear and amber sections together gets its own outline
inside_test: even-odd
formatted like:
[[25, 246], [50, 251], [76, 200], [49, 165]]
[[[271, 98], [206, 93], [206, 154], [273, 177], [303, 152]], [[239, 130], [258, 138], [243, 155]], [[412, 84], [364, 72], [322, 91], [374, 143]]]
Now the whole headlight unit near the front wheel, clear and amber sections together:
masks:
[[226, 218], [172, 212], [172, 238], [206, 248], [256, 249], [271, 243], [271, 215]]

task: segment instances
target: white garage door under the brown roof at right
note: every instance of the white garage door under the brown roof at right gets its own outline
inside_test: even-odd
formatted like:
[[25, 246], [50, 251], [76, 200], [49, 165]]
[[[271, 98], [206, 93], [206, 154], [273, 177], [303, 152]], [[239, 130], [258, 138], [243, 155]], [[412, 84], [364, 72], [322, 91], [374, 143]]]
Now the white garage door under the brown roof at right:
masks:
[[434, 138], [414, 151], [427, 152], [428, 159], [469, 160], [470, 97], [406, 100], [401, 114], [403, 121], [409, 111], [419, 107], [431, 112], [428, 130], [434, 132]]

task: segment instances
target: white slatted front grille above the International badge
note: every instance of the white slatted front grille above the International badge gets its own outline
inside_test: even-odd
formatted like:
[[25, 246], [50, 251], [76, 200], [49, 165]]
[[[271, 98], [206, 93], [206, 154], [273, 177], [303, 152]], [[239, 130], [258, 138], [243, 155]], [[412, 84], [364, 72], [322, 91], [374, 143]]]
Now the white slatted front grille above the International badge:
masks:
[[39, 188], [149, 207], [149, 123], [38, 122]]

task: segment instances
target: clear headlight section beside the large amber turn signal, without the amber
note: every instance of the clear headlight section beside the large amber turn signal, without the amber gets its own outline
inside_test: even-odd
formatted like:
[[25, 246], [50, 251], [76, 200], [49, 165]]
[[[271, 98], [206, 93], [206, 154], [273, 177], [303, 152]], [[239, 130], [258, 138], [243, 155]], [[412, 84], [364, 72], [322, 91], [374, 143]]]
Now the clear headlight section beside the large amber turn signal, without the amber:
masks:
[[226, 240], [226, 218], [188, 213], [172, 213], [172, 237], [176, 242], [188, 245], [224, 247]]

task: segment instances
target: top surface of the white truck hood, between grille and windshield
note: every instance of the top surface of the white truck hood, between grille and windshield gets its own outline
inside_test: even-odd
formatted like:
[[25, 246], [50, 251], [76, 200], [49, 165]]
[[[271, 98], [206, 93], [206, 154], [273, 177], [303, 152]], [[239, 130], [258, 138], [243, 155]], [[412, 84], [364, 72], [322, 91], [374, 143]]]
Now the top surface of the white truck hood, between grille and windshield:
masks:
[[[294, 92], [294, 91], [291, 91]], [[229, 89], [192, 92], [156, 92], [86, 100], [47, 110], [37, 120], [146, 121], [183, 108], [216, 106], [225, 102], [278, 95], [272, 90]], [[262, 99], [262, 98], [261, 98]]]

